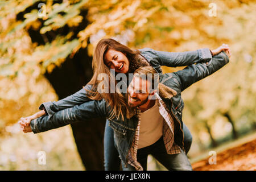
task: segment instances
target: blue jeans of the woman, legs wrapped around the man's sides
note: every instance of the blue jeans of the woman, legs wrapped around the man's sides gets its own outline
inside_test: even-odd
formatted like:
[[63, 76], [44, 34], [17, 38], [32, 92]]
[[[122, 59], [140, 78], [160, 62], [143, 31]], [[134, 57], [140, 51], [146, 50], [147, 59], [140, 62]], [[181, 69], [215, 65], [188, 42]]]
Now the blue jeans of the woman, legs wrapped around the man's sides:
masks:
[[[184, 148], [186, 154], [192, 144], [192, 135], [187, 126], [183, 123], [184, 133]], [[108, 119], [106, 120], [105, 133], [104, 133], [104, 167], [105, 171], [118, 171], [120, 169], [121, 160], [117, 149], [114, 146], [114, 131], [109, 126]], [[143, 168], [146, 169], [146, 168]]]

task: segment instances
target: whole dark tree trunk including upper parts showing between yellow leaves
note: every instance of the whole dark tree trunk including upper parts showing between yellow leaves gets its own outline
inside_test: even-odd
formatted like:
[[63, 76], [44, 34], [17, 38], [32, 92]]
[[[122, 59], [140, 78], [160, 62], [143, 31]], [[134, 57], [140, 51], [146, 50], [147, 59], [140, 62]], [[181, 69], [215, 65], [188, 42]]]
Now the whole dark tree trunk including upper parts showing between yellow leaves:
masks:
[[[54, 1], [53, 4], [60, 2]], [[37, 9], [38, 4], [39, 2], [36, 2], [31, 7], [20, 12], [16, 16], [16, 19], [24, 21], [24, 14], [30, 12], [32, 9]], [[87, 13], [87, 10], [80, 11], [80, 15], [83, 17], [86, 17]], [[44, 20], [39, 20], [43, 24]], [[73, 38], [77, 38], [79, 31], [84, 30], [88, 24], [88, 20], [84, 18], [77, 27], [68, 27], [65, 25], [55, 31], [51, 30], [46, 32], [46, 34], [40, 34], [40, 28], [38, 30], [29, 28], [28, 34], [33, 43], [36, 42], [39, 45], [44, 45], [54, 40], [57, 35], [67, 35], [69, 32], [73, 32]], [[67, 57], [60, 68], [57, 67], [53, 69], [51, 73], [45, 74], [46, 78], [55, 89], [57, 96], [59, 96], [59, 100], [70, 96], [80, 90], [82, 86], [86, 85], [90, 78], [92, 78], [91, 63], [92, 57], [88, 56], [87, 49], [80, 49], [73, 59]], [[103, 142], [105, 118], [73, 123], [71, 127], [77, 150], [86, 170], [104, 170]]]

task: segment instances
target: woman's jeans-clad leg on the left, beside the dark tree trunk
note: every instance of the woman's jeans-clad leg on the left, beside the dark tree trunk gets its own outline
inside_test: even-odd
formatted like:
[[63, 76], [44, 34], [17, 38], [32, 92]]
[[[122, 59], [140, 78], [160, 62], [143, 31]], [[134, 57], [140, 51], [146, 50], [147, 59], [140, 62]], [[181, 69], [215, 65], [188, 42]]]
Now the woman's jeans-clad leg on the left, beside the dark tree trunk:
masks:
[[106, 120], [104, 133], [104, 167], [105, 171], [119, 171], [120, 162], [119, 154], [114, 146], [114, 131], [109, 126], [109, 120]]

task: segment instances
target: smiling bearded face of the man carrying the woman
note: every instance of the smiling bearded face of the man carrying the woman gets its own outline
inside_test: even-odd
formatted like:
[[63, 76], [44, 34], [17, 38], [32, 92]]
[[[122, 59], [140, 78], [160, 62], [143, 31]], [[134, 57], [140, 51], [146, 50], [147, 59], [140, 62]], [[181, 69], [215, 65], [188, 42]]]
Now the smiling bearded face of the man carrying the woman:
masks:
[[127, 89], [128, 105], [130, 107], [138, 107], [148, 101], [150, 84], [149, 81], [143, 80], [138, 76], [133, 77], [133, 80]]

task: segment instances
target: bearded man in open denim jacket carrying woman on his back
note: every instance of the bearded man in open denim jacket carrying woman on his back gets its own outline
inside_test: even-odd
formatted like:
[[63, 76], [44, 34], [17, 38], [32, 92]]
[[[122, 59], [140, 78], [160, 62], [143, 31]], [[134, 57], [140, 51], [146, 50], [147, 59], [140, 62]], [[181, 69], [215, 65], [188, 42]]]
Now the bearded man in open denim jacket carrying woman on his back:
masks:
[[[160, 75], [160, 83], [165, 85], [159, 84], [160, 96], [156, 90], [149, 89], [152, 82], [134, 76], [127, 89], [127, 104], [135, 108], [135, 115], [127, 116], [124, 121], [119, 118], [110, 121], [110, 127], [114, 129], [115, 147], [117, 147], [123, 169], [146, 169], [148, 154], [155, 156], [167, 169], [192, 169], [184, 152], [181, 119], [184, 104], [180, 93], [228, 62], [229, 57], [221, 52], [219, 55], [213, 56], [213, 59], [207, 64], [190, 65], [182, 71]], [[154, 70], [151, 69], [150, 72], [154, 73]], [[143, 88], [147, 89], [142, 90]], [[168, 90], [168, 92], [164, 90]], [[148, 100], [148, 96], [155, 96], [156, 100]], [[51, 119], [41, 117], [32, 120], [30, 126], [34, 133], [39, 133], [68, 125], [74, 121], [96, 117], [108, 118], [110, 111], [111, 108], [104, 100], [89, 101], [80, 106], [59, 111]], [[151, 116], [150, 120], [148, 116]]]

